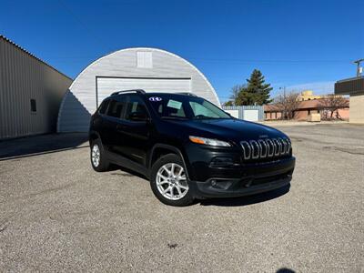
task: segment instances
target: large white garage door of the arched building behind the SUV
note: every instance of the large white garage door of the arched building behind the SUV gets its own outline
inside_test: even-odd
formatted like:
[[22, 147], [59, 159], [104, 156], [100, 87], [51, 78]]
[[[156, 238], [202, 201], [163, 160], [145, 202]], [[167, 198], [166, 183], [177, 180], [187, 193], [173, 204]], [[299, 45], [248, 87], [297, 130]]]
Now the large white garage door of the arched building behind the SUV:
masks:
[[96, 77], [97, 102], [111, 93], [128, 89], [144, 89], [146, 92], [191, 92], [190, 78], [150, 77]]

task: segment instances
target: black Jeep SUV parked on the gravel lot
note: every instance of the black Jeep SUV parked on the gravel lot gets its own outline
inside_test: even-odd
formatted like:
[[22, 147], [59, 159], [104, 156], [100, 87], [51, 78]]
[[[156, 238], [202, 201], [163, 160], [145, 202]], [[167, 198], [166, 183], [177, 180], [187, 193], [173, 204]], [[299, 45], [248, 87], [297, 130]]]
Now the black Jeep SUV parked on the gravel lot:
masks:
[[96, 171], [136, 171], [173, 206], [283, 187], [295, 167], [288, 136], [187, 93], [113, 93], [91, 118], [89, 142]]

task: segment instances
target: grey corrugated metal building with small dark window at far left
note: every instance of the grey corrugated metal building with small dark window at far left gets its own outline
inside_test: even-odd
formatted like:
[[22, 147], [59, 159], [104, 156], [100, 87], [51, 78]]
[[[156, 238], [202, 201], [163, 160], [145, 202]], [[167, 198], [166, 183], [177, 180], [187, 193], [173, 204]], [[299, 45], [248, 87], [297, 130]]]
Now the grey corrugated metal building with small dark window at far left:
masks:
[[56, 131], [58, 108], [71, 83], [0, 35], [0, 139]]

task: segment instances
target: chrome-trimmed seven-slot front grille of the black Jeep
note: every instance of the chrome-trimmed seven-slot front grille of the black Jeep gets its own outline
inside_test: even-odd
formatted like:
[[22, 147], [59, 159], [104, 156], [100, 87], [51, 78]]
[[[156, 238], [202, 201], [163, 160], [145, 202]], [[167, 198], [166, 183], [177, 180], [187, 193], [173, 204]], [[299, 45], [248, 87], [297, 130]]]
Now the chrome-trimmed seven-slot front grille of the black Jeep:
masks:
[[241, 141], [245, 160], [259, 158], [277, 158], [287, 156], [291, 143], [288, 138], [261, 138], [258, 140]]

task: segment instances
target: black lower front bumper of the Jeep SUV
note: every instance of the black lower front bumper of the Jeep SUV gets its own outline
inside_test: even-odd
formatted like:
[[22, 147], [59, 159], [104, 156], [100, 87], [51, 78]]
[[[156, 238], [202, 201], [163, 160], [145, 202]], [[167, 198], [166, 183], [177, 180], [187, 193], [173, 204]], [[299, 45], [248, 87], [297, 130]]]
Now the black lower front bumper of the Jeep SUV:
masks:
[[[279, 187], [287, 186], [295, 167], [295, 157], [280, 159], [273, 162], [254, 163], [229, 169], [230, 177], [218, 175], [206, 181], [190, 181], [189, 187], [197, 198], [204, 197], [241, 197], [254, 195]], [[226, 173], [220, 169], [221, 173]]]

